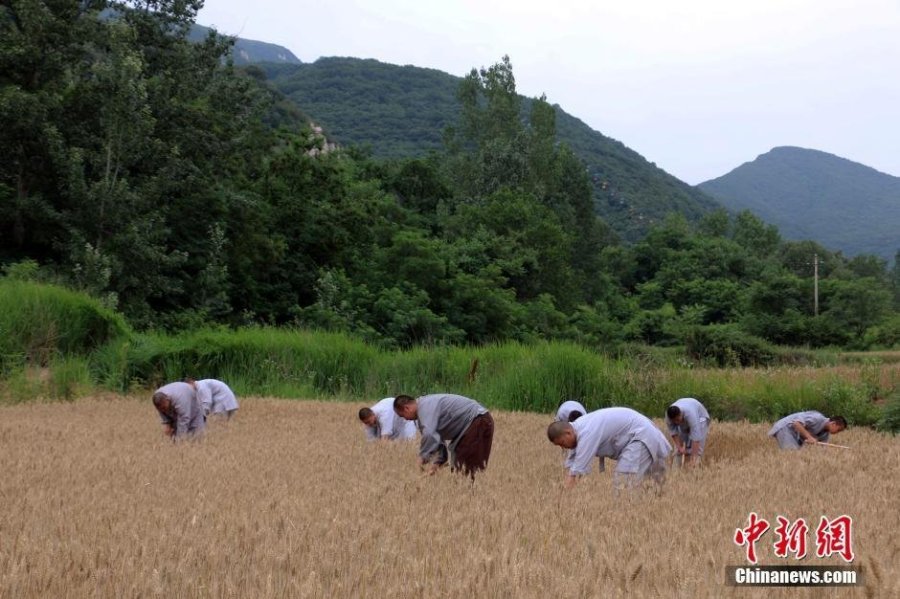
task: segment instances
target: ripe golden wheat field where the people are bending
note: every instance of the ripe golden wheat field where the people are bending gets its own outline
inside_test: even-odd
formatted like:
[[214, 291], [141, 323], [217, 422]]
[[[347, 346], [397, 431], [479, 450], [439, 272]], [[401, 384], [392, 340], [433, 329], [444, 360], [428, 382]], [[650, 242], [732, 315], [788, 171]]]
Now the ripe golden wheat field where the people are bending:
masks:
[[[364, 440], [361, 404], [242, 399], [172, 444], [149, 398], [0, 408], [0, 597], [900, 597], [900, 438], [781, 453], [714, 422], [700, 471], [571, 491], [547, 415], [495, 412], [487, 471], [421, 478], [416, 444]], [[852, 589], [725, 586], [755, 511], [853, 517]], [[780, 559], [770, 533], [761, 564]]]

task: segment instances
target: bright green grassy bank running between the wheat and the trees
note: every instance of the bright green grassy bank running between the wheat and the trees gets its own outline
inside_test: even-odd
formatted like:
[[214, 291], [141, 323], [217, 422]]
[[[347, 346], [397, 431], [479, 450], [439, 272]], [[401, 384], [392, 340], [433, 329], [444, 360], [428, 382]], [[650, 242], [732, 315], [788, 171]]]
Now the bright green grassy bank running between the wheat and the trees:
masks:
[[551, 413], [577, 398], [591, 409], [626, 405], [651, 415], [692, 396], [723, 420], [767, 421], [816, 409], [874, 424], [880, 405], [900, 388], [900, 363], [878, 357], [852, 365], [703, 369], [671, 351], [634, 348], [611, 357], [554, 341], [383, 351], [306, 330], [136, 334], [80, 294], [11, 282], [0, 283], [0, 307], [5, 402], [146, 392], [193, 376], [225, 380], [240, 395], [372, 402], [452, 391], [504, 410]]

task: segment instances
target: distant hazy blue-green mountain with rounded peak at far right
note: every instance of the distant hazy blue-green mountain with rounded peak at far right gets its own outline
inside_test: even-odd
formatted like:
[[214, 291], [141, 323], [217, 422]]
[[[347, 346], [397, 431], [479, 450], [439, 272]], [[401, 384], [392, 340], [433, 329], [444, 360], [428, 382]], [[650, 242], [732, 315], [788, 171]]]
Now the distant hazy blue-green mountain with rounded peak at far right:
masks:
[[699, 187], [788, 239], [886, 260], [900, 249], [900, 178], [817, 150], [779, 147]]

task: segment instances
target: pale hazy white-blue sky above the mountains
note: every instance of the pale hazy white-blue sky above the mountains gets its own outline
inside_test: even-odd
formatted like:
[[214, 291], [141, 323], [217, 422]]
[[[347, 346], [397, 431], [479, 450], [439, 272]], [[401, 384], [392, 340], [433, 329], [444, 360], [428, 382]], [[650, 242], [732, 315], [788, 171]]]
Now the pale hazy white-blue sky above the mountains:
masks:
[[206, 0], [198, 22], [303, 62], [508, 54], [519, 93], [691, 184], [783, 145], [900, 176], [898, 0]]

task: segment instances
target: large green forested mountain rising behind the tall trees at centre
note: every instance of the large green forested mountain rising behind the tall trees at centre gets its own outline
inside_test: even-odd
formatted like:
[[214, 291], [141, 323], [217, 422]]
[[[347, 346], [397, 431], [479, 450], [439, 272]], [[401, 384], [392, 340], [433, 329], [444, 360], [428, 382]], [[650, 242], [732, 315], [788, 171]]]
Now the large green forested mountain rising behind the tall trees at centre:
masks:
[[[459, 117], [461, 78], [434, 69], [358, 58], [267, 66], [274, 85], [333, 139], [408, 158], [443, 148], [443, 131]], [[522, 99], [525, 120], [530, 101]], [[627, 241], [637, 241], [671, 212], [696, 222], [718, 203], [624, 144], [554, 106], [558, 139], [585, 163], [597, 213]]]

